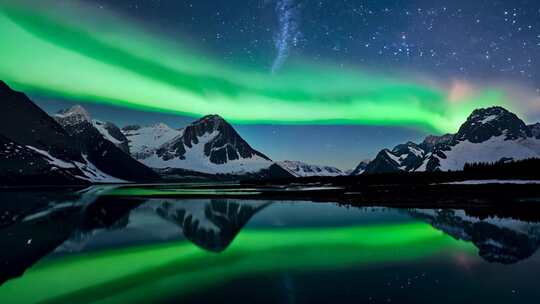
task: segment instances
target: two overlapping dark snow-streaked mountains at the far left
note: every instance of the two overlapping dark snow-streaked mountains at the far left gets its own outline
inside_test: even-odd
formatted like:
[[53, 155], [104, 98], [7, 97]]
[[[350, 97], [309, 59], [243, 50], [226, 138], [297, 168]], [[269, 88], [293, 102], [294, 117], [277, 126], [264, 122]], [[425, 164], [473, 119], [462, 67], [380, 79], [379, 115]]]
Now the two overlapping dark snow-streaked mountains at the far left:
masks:
[[111, 123], [80, 106], [49, 116], [0, 82], [0, 184], [84, 184], [157, 180], [133, 159]]

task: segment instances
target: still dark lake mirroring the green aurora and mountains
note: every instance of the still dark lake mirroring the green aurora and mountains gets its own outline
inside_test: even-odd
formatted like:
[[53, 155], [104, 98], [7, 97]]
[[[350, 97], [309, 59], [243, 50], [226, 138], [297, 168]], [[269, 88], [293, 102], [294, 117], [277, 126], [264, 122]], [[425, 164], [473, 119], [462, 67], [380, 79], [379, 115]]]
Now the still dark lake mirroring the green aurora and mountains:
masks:
[[143, 190], [2, 191], [0, 303], [540, 299], [538, 222]]

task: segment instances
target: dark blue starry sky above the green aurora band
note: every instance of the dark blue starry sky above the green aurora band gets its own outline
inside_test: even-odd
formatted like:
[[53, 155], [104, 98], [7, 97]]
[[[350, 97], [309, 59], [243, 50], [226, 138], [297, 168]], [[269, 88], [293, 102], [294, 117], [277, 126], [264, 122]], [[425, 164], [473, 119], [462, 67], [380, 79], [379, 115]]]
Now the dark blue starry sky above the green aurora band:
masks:
[[[514, 79], [540, 90], [540, 2], [534, 0], [86, 0], [183, 33], [223, 61], [271, 69], [279, 3], [290, 53], [443, 79]], [[287, 10], [287, 9], [286, 9]]]

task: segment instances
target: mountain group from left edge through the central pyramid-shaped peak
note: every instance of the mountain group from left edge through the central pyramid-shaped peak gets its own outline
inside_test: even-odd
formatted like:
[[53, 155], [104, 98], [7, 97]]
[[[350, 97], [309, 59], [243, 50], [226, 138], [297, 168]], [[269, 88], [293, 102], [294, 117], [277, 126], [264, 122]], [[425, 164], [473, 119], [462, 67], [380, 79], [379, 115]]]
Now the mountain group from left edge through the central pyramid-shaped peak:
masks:
[[81, 106], [51, 117], [3, 82], [0, 100], [0, 184], [293, 177], [217, 115], [179, 130], [164, 124], [120, 129]]

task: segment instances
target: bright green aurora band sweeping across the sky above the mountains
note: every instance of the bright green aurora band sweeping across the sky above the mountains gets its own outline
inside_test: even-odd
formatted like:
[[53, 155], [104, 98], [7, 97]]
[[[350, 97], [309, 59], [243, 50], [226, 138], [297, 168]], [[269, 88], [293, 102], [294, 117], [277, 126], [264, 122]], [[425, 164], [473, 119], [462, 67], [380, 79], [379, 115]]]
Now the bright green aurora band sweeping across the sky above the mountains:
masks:
[[[63, 5], [58, 5], [62, 3]], [[18, 90], [235, 123], [413, 126], [454, 132], [487, 90], [446, 90], [296, 60], [279, 75], [232, 67], [79, 1], [0, 0], [0, 79]]]

